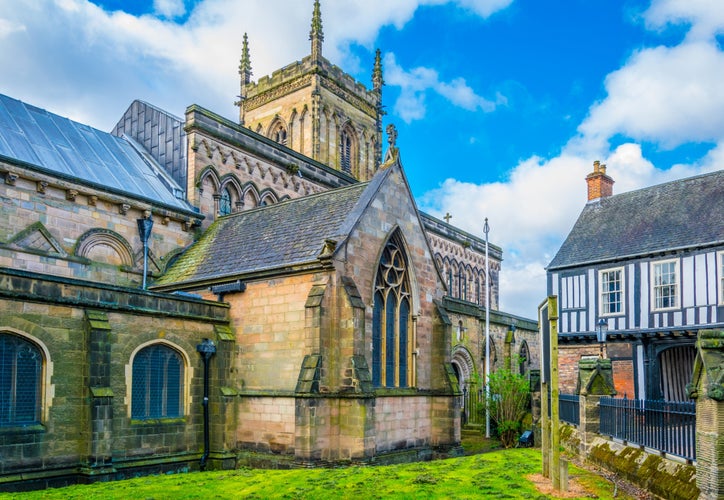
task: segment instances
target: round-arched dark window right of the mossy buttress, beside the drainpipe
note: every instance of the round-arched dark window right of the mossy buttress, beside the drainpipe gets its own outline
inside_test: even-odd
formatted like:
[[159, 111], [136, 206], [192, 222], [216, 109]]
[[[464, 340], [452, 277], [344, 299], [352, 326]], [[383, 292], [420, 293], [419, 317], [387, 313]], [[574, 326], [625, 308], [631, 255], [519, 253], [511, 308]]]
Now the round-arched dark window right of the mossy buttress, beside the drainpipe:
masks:
[[138, 351], [133, 358], [131, 418], [183, 416], [184, 362], [181, 355], [163, 344]]

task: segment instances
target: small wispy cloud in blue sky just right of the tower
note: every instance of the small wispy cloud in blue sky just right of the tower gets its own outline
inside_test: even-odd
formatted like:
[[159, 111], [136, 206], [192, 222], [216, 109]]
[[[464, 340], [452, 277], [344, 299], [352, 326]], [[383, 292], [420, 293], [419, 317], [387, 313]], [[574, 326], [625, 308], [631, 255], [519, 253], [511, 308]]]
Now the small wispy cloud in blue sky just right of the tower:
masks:
[[502, 95], [496, 95], [495, 101], [479, 96], [468, 86], [464, 78], [455, 78], [450, 82], [440, 81], [440, 75], [432, 68], [417, 67], [409, 71], [397, 64], [395, 54], [388, 52], [384, 58], [385, 82], [400, 87], [400, 96], [395, 103], [395, 113], [405, 122], [421, 120], [425, 117], [425, 100], [429, 92], [434, 92], [455, 106], [469, 111], [494, 111], [499, 104], [505, 104]]

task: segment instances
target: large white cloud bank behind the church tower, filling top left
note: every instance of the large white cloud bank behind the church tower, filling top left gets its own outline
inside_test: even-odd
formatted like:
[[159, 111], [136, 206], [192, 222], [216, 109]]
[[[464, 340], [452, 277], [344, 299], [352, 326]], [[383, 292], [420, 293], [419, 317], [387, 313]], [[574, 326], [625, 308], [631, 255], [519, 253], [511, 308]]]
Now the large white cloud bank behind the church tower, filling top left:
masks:
[[[402, 28], [420, 6], [446, 3], [485, 17], [510, 0], [323, 2], [324, 53], [343, 67], [358, 65], [351, 43], [371, 48], [380, 27]], [[255, 78], [309, 53], [311, 1], [203, 0], [183, 25], [169, 20], [183, 15], [182, 0], [155, 0], [154, 8], [166, 19], [109, 13], [86, 0], [33, 0], [23, 8], [0, 0], [0, 65], [16, 69], [0, 74], [0, 89], [105, 130], [135, 98], [177, 115], [195, 103], [233, 119], [244, 32]], [[462, 82], [441, 85], [449, 98], [473, 105]], [[410, 110], [418, 103], [411, 96]]]

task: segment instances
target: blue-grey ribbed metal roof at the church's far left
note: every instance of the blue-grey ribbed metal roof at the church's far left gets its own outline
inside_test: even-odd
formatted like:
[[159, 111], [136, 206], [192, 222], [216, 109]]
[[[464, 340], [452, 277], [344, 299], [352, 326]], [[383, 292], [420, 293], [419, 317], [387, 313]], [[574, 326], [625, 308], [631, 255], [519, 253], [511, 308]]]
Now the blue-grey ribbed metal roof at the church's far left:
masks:
[[0, 155], [39, 170], [186, 211], [183, 190], [123, 138], [0, 94]]

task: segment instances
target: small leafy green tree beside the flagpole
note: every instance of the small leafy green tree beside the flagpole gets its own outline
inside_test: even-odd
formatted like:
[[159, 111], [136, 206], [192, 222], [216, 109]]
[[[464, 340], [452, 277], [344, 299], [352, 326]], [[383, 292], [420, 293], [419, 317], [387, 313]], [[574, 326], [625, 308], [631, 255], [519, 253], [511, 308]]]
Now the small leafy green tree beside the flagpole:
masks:
[[502, 368], [490, 374], [488, 392], [486, 408], [490, 419], [496, 424], [503, 447], [511, 448], [517, 443], [528, 410], [530, 384], [525, 376]]

